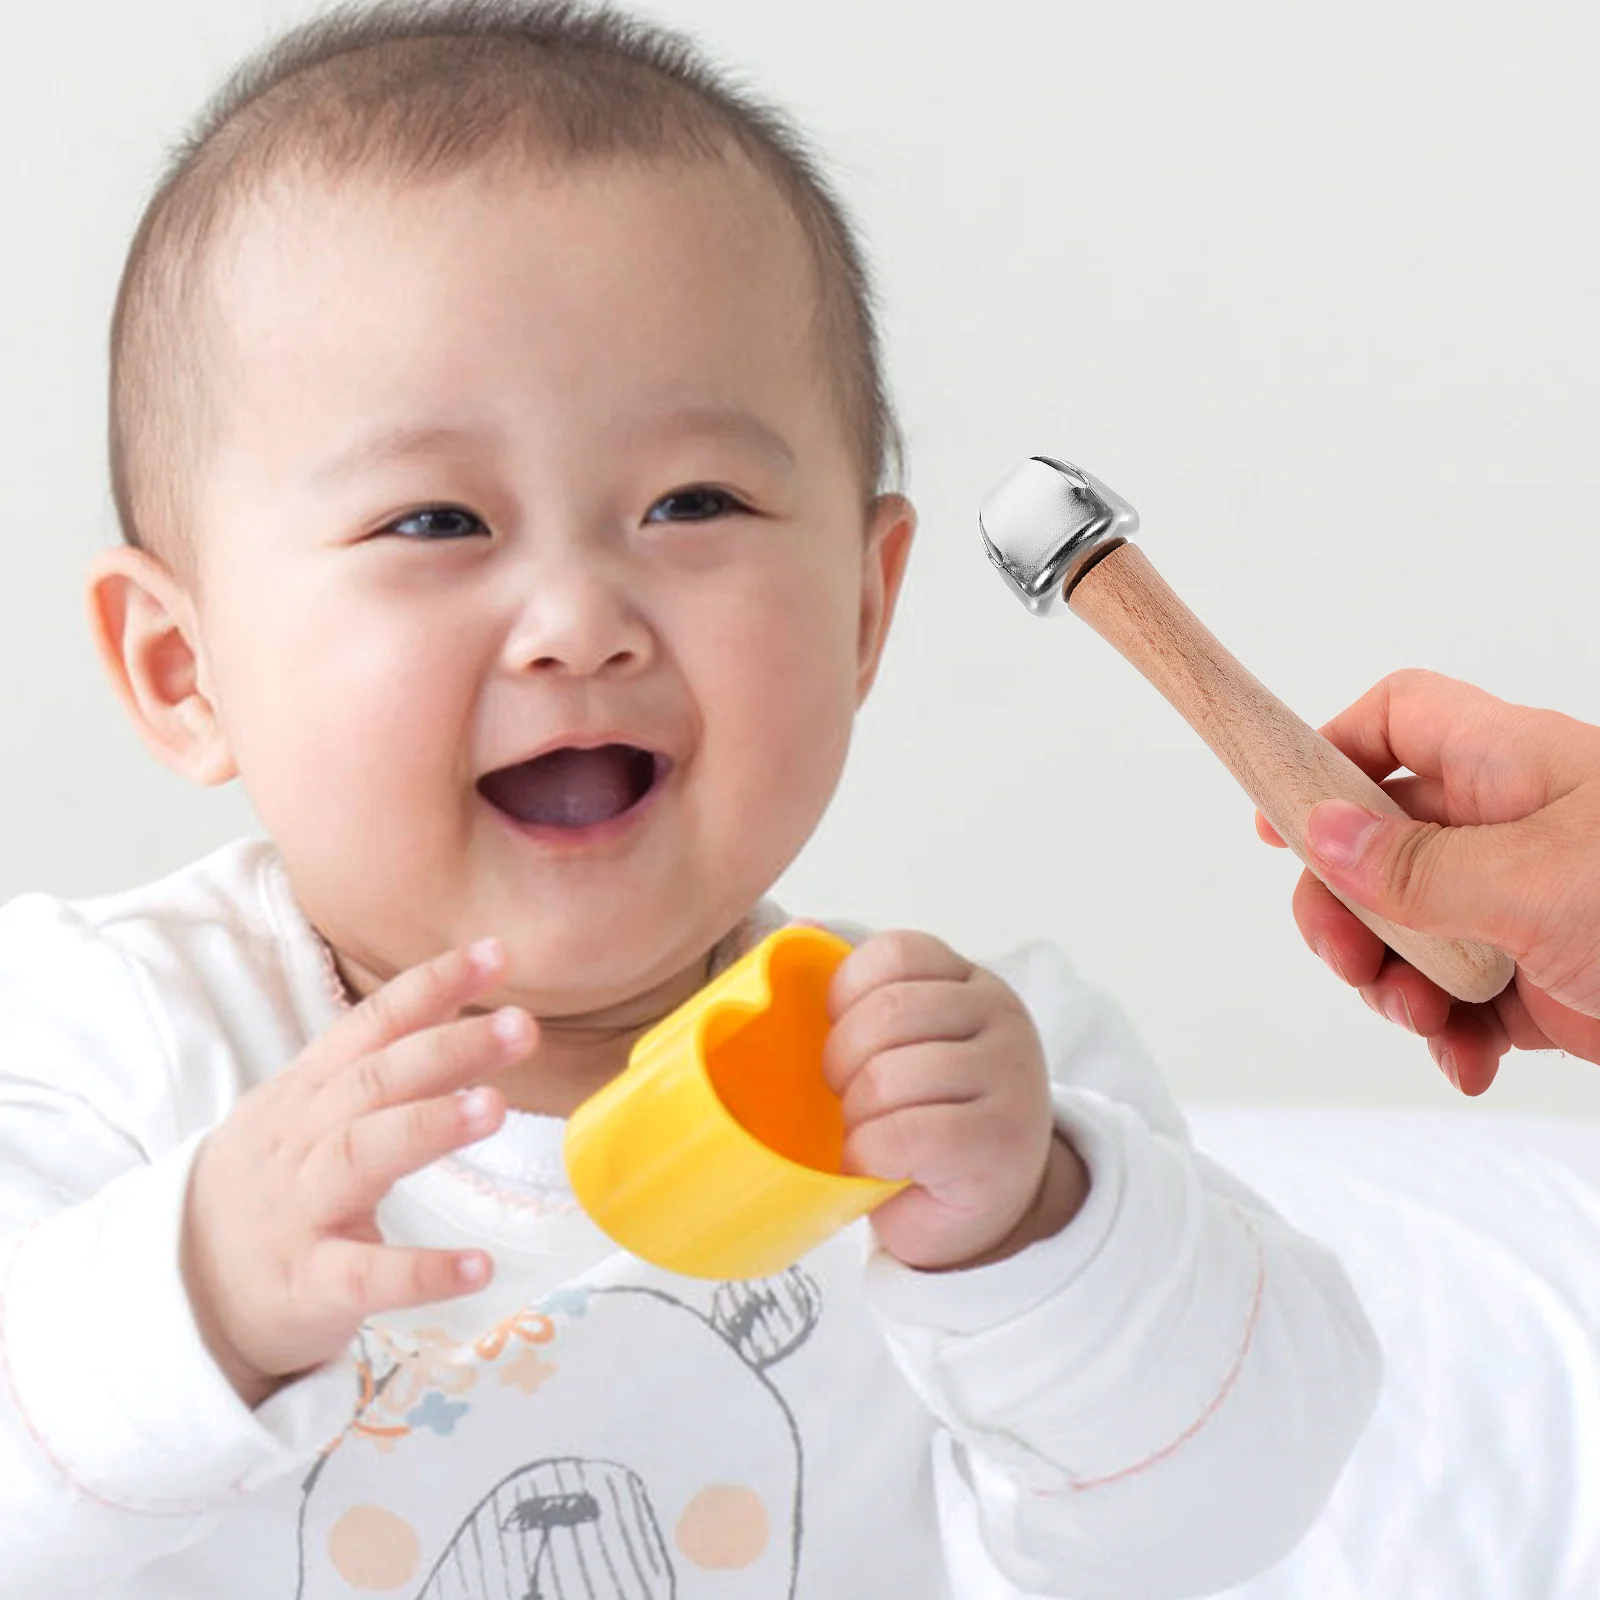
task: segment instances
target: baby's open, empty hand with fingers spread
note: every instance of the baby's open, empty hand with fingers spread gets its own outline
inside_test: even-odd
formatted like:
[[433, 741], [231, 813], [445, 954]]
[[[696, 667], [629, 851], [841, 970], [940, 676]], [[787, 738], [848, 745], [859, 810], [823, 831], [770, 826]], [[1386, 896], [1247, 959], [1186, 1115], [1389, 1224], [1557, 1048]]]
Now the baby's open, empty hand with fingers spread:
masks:
[[488, 1282], [483, 1251], [386, 1245], [374, 1210], [405, 1173], [499, 1126], [498, 1090], [459, 1091], [526, 1056], [533, 1018], [458, 1013], [504, 966], [501, 944], [485, 939], [402, 973], [202, 1142], [184, 1282], [206, 1344], [251, 1408], [338, 1355], [373, 1312]]

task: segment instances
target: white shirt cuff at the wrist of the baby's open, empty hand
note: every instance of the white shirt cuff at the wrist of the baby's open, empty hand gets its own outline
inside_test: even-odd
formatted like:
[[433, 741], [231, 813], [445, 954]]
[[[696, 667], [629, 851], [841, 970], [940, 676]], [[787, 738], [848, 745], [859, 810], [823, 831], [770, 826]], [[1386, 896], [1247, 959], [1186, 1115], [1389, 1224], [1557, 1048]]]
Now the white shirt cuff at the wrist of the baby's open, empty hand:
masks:
[[251, 1411], [195, 1325], [179, 1269], [202, 1133], [45, 1218], [0, 1282], [0, 1368], [37, 1448], [80, 1491], [206, 1509], [314, 1456], [349, 1422], [341, 1358]]

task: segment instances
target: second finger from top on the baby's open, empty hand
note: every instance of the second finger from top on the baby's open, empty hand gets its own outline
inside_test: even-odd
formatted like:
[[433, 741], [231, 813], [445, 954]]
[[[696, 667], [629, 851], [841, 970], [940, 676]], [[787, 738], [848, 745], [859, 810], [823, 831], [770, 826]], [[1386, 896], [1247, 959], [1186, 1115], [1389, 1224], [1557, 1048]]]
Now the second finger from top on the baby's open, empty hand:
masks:
[[522, 1006], [426, 1027], [323, 1078], [312, 1101], [317, 1126], [338, 1134], [384, 1106], [462, 1088], [520, 1061], [538, 1037], [538, 1026]]

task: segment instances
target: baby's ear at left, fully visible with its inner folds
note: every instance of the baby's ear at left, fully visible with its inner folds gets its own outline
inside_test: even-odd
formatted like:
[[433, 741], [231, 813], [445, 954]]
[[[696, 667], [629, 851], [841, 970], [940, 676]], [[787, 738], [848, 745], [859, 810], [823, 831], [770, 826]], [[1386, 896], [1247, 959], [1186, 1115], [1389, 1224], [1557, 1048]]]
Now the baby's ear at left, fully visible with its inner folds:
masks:
[[155, 758], [197, 784], [235, 778], [184, 584], [149, 550], [117, 546], [90, 566], [88, 608], [112, 686]]

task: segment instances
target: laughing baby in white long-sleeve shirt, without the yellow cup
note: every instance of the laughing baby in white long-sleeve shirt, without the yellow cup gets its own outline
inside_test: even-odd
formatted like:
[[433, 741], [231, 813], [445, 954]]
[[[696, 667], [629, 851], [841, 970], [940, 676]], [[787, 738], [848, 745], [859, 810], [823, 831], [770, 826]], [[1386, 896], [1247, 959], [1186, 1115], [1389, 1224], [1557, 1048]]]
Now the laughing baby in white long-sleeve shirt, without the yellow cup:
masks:
[[0, 912], [8, 1600], [974, 1592], [941, 1493], [1027, 1589], [1190, 1595], [1310, 1523], [1365, 1318], [1046, 949], [850, 933], [824, 1070], [910, 1187], [778, 1278], [566, 1186], [786, 920], [891, 438], [838, 205], [683, 40], [440, 0], [224, 90], [126, 264], [91, 613], [267, 838]]

